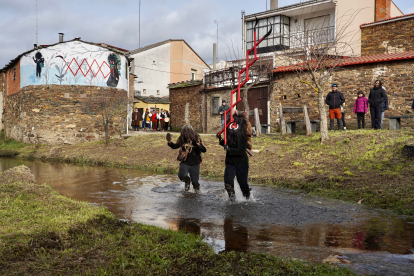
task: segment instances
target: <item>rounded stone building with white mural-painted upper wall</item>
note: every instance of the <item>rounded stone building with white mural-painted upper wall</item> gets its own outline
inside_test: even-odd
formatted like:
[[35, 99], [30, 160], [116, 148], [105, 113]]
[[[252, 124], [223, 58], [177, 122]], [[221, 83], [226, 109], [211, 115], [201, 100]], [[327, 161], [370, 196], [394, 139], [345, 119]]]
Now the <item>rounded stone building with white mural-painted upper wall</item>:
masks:
[[63, 41], [61, 34], [59, 43], [35, 45], [11, 60], [0, 70], [6, 135], [45, 144], [100, 139], [103, 128], [82, 112], [81, 103], [103, 92], [128, 95], [133, 78], [125, 53], [80, 38]]

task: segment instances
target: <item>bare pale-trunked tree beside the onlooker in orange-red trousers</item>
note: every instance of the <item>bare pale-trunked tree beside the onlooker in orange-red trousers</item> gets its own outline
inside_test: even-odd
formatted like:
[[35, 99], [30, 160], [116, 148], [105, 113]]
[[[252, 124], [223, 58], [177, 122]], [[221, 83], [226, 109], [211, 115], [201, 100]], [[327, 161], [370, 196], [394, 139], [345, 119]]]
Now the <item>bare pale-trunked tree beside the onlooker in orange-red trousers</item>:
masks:
[[359, 12], [345, 14], [337, 18], [336, 22], [330, 20], [329, 16], [304, 20], [298, 24], [296, 32], [291, 30], [285, 36], [284, 39], [288, 40], [284, 41], [288, 41], [288, 44], [276, 52], [276, 63], [284, 66], [280, 71], [296, 72], [298, 81], [318, 94], [321, 143], [329, 139], [325, 108], [327, 84], [344, 59], [354, 56], [357, 32], [349, 31], [349, 26]]

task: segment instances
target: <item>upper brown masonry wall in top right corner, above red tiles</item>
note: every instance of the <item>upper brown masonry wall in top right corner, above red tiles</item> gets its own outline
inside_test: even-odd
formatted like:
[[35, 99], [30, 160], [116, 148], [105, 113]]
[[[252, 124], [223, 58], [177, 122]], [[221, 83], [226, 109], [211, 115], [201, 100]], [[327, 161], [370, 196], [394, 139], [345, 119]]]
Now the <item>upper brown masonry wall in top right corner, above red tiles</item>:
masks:
[[361, 28], [361, 55], [414, 51], [414, 18]]

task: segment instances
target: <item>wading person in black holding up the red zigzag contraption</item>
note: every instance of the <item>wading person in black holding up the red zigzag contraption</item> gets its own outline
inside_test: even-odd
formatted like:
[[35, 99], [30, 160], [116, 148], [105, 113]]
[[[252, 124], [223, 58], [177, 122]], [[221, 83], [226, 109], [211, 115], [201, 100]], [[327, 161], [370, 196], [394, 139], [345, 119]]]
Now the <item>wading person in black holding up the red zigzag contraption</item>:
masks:
[[243, 196], [246, 199], [250, 198], [250, 188], [247, 183], [249, 174], [249, 157], [246, 153], [248, 148], [247, 123], [243, 115], [233, 115], [233, 118], [234, 122], [227, 128], [227, 144], [224, 144], [224, 140], [218, 136], [220, 145], [226, 150], [224, 188], [231, 201], [236, 199], [234, 176], [239, 182]]

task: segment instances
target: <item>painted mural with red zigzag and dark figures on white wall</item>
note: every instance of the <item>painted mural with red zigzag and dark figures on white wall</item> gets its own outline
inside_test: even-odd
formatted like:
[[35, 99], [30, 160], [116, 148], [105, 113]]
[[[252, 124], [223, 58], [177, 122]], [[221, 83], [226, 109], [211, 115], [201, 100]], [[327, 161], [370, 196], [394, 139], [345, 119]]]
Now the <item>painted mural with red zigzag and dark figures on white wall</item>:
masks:
[[[20, 87], [93, 85], [128, 90], [128, 63], [103, 47], [70, 41], [28, 53], [20, 59]], [[124, 68], [125, 67], [125, 68]]]

